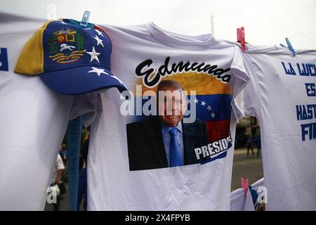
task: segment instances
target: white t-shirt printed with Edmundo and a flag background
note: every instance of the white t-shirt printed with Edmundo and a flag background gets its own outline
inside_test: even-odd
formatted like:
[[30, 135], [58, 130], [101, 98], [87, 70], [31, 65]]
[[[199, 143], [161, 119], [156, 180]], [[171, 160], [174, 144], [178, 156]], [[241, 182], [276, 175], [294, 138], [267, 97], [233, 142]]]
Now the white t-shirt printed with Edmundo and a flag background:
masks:
[[[184, 165], [170, 167], [164, 148], [168, 133], [157, 117], [122, 115], [126, 101], [119, 92], [101, 93], [90, 133], [88, 210], [229, 210], [236, 125], [230, 101], [248, 79], [239, 49], [211, 35], [173, 34], [152, 23], [103, 28], [112, 40], [112, 72], [133, 91], [133, 99], [155, 90], [161, 78], [173, 79], [191, 94], [189, 105], [195, 104], [199, 121], [193, 127], [183, 122], [178, 141]], [[195, 146], [187, 145], [189, 139]], [[210, 148], [201, 139], [209, 139]], [[216, 145], [220, 151], [214, 151]], [[203, 165], [197, 163], [202, 149], [210, 161]]]

